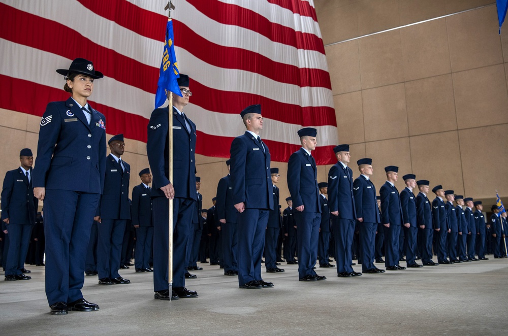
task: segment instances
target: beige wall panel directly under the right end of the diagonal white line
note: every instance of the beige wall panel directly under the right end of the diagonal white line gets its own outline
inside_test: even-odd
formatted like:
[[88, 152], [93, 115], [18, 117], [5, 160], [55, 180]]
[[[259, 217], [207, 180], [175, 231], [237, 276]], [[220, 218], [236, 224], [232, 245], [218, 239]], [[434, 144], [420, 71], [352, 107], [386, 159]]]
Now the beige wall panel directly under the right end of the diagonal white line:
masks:
[[496, 6], [453, 15], [446, 21], [453, 72], [503, 61]]

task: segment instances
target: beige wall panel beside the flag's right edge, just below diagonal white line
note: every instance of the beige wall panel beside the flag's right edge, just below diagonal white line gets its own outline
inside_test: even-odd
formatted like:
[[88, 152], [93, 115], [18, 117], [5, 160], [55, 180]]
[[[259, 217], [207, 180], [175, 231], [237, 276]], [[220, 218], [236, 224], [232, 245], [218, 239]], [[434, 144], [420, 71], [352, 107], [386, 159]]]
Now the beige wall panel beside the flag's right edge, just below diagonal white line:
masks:
[[333, 94], [362, 88], [358, 41], [344, 42], [325, 48]]

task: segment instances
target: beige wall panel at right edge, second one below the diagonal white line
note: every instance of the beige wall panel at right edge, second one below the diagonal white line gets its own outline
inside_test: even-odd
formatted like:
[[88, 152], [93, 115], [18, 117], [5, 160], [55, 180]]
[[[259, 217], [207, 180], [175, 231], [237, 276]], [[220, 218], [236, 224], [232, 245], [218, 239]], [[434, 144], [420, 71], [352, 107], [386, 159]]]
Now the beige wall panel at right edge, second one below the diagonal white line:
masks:
[[508, 121], [504, 65], [453, 74], [458, 128]]

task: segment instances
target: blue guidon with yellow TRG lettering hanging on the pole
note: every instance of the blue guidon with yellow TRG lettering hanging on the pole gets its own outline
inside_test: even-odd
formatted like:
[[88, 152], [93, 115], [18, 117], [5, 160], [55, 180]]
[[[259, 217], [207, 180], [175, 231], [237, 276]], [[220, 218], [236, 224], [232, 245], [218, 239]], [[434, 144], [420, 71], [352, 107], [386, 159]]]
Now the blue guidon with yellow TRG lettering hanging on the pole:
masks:
[[161, 62], [161, 74], [157, 82], [157, 93], [155, 93], [155, 108], [166, 102], [166, 90], [182, 96], [176, 79], [180, 77], [178, 63], [176, 62], [175, 47], [173, 45], [173, 21], [168, 19], [166, 25], [166, 39], [164, 41], [164, 53]]

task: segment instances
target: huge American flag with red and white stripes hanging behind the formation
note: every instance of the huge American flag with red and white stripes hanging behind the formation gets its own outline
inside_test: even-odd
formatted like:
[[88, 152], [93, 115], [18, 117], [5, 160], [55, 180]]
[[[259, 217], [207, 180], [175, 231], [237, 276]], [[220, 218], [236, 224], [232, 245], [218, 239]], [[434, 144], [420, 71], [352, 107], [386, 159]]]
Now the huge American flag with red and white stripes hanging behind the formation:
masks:
[[[336, 160], [335, 111], [313, 0], [176, 0], [172, 12], [180, 73], [193, 96], [185, 113], [196, 152], [229, 157], [244, 133], [239, 113], [261, 104], [261, 137], [273, 161], [315, 127], [318, 164]], [[164, 47], [167, 0], [0, 0], [0, 108], [42, 116], [65, 100], [55, 73], [76, 57], [104, 73], [90, 102], [109, 134], [146, 142]]]

